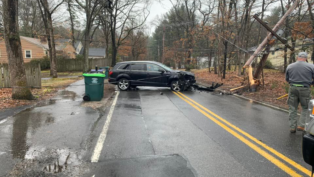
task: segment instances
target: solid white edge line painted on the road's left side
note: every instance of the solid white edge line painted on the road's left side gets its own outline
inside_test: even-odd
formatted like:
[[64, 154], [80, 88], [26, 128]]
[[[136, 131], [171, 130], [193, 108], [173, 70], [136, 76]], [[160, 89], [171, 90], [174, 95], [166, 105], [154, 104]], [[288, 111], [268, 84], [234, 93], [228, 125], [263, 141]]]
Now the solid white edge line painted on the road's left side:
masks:
[[115, 109], [119, 93], [120, 93], [120, 91], [116, 92], [116, 97], [113, 100], [113, 103], [111, 105], [110, 111], [109, 111], [107, 119], [106, 119], [106, 123], [105, 123], [104, 127], [102, 128], [102, 131], [101, 131], [101, 133], [99, 135], [99, 138], [97, 140], [97, 144], [95, 146], [93, 155], [91, 157], [91, 161], [92, 162], [98, 162], [98, 160], [99, 160], [99, 156], [100, 156], [103, 144], [104, 144], [105, 139], [106, 139], [107, 131], [108, 131], [108, 128], [109, 128], [111, 117], [112, 117], [112, 113], [113, 113], [113, 110]]

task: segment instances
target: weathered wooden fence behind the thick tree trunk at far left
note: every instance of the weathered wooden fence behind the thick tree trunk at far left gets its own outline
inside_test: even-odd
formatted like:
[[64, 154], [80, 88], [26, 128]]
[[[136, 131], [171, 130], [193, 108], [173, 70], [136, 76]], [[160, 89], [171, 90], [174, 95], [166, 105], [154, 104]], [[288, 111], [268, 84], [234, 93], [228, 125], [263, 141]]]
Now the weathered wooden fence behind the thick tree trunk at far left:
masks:
[[[41, 86], [40, 64], [24, 63], [28, 86]], [[0, 87], [10, 87], [8, 63], [0, 63]]]

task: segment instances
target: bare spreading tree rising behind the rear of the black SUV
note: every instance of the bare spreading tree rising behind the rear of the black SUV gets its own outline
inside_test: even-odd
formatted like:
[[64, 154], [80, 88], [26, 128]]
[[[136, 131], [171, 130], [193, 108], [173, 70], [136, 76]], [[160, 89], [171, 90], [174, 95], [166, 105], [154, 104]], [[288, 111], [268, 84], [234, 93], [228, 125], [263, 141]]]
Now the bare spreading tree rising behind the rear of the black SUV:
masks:
[[[138, 7], [138, 4], [143, 4]], [[118, 48], [125, 43], [132, 30], [141, 28], [149, 15], [149, 0], [113, 0], [112, 4], [106, 9], [110, 14], [110, 30], [112, 41], [112, 61], [111, 66], [116, 65], [116, 56]], [[143, 20], [138, 20], [141, 19]], [[128, 28], [128, 24], [139, 21], [132, 28]]]

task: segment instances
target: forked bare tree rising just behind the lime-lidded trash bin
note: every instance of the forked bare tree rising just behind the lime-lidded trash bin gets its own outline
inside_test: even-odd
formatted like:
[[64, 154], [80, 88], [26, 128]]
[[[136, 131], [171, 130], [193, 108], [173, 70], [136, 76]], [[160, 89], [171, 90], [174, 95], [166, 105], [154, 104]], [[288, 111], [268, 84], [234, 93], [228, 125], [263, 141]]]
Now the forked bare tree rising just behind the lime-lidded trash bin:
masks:
[[83, 72], [87, 72], [89, 69], [88, 64], [88, 51], [89, 51], [89, 44], [91, 38], [91, 30], [94, 25], [94, 20], [97, 15], [103, 10], [104, 7], [108, 5], [111, 1], [102, 1], [102, 0], [84, 0], [83, 3], [81, 0], [75, 0], [78, 5], [84, 9], [86, 14], [86, 26], [85, 26], [85, 33], [84, 33], [84, 70]]

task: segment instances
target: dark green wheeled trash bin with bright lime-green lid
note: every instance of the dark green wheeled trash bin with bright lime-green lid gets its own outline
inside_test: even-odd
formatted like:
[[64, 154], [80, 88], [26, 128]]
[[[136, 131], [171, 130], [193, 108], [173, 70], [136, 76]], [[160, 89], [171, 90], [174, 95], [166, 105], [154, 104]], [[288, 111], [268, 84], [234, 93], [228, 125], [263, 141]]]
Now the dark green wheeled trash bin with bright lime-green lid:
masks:
[[101, 73], [84, 73], [85, 84], [84, 101], [100, 101], [104, 96], [104, 79], [105, 74]]

